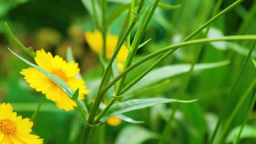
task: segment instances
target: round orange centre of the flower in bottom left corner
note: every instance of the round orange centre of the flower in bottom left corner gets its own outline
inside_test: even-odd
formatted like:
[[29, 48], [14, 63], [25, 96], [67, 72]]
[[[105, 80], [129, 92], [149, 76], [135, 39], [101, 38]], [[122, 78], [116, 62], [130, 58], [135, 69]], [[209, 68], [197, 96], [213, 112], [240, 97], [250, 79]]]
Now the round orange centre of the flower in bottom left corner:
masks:
[[13, 135], [17, 130], [17, 126], [13, 120], [8, 118], [0, 120], [0, 131], [5, 135]]

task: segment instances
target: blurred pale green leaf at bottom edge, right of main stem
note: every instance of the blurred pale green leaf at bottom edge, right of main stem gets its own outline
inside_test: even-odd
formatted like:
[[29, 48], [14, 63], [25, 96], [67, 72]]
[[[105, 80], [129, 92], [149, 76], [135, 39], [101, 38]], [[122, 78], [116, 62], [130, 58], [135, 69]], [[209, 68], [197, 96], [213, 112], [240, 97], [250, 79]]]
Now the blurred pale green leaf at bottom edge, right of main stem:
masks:
[[147, 140], [158, 139], [159, 135], [141, 126], [128, 125], [124, 127], [114, 144], [144, 144]]

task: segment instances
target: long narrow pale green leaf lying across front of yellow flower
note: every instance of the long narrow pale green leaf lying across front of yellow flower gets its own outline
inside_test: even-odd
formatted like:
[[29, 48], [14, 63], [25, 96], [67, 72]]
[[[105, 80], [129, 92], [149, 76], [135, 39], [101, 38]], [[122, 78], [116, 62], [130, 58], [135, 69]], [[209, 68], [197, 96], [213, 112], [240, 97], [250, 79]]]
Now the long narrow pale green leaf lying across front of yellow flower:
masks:
[[[9, 47], [8, 47], [9, 49]], [[56, 77], [55, 75], [46, 72], [44, 69], [40, 68], [39, 66], [37, 66], [36, 64], [30, 63], [29, 61], [27, 61], [26, 59], [22, 58], [21, 56], [19, 56], [18, 54], [14, 53], [13, 51], [11, 51], [9, 49], [9, 51], [14, 54], [15, 56], [17, 56], [20, 60], [22, 60], [23, 62], [27, 63], [28, 65], [34, 67], [35, 69], [37, 69], [39, 72], [42, 72], [44, 75], [46, 75], [49, 79], [51, 79], [52, 81], [54, 81], [58, 86], [60, 86], [62, 88], [62, 90], [64, 90], [64, 92], [72, 99], [73, 96], [73, 90], [61, 79], [59, 79], [58, 77]], [[78, 108], [80, 109], [80, 111], [82, 112], [84, 118], [87, 118], [89, 113], [87, 108], [85, 107], [84, 103], [82, 102], [81, 99], [77, 100], [77, 105]]]

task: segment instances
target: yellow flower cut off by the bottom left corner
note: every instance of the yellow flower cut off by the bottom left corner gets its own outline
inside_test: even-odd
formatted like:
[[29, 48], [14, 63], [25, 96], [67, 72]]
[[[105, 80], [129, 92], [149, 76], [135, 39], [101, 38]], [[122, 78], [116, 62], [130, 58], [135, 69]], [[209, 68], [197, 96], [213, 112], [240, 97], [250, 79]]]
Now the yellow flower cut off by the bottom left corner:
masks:
[[12, 109], [9, 103], [0, 104], [0, 144], [43, 144], [43, 139], [30, 134], [33, 122], [17, 117]]

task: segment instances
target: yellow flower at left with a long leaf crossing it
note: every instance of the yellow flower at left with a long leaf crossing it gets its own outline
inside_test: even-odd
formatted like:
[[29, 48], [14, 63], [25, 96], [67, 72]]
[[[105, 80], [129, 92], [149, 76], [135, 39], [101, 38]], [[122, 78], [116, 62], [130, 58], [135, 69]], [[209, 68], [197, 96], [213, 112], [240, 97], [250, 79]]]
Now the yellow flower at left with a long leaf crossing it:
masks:
[[[66, 82], [72, 90], [75, 91], [79, 88], [79, 99], [84, 99], [83, 94], [89, 92], [84, 85], [85, 82], [75, 77], [80, 71], [77, 63], [67, 63], [60, 56], [55, 55], [53, 57], [51, 53], [46, 53], [43, 49], [37, 51], [35, 61], [39, 67]], [[46, 94], [47, 99], [51, 99], [56, 103], [58, 108], [69, 111], [77, 106], [75, 101], [70, 99], [55, 82], [37, 69], [29, 67], [28, 69], [23, 69], [20, 73], [25, 76], [24, 78], [31, 88], [42, 91], [43, 94]]]

